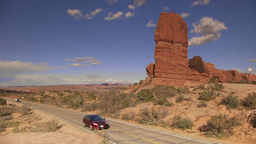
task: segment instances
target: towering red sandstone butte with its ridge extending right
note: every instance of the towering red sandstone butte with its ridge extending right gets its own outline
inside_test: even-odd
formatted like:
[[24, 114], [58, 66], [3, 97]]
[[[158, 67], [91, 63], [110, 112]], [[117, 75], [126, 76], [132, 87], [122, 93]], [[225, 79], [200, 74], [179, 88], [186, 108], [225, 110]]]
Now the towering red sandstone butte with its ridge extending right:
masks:
[[155, 31], [155, 64], [146, 67], [152, 84], [194, 86], [216, 77], [219, 82], [256, 81], [256, 75], [237, 70], [219, 70], [200, 56], [188, 60], [188, 27], [180, 15], [161, 12]]

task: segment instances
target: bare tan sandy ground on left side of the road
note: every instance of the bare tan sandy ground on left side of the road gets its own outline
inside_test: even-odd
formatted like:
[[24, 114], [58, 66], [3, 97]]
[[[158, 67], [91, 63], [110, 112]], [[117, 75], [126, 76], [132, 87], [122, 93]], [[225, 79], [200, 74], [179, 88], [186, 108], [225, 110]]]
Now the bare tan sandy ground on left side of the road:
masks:
[[[14, 102], [7, 101], [7, 104], [13, 104]], [[18, 106], [22, 104], [17, 103]], [[32, 117], [38, 117], [40, 121], [48, 121], [52, 119], [58, 119], [55, 116], [42, 112], [40, 110], [32, 110]], [[20, 114], [15, 113], [14, 119], [20, 119]], [[26, 118], [23, 118], [26, 120]], [[32, 118], [30, 118], [32, 120]], [[4, 134], [0, 134], [0, 144], [92, 144], [94, 142], [100, 142], [102, 138], [96, 134], [89, 134], [88, 132], [81, 130], [80, 128], [64, 121], [59, 120], [59, 124], [64, 124], [61, 128], [61, 132], [22, 132], [11, 133], [13, 128], [7, 129]], [[25, 124], [26, 122], [24, 122]], [[22, 126], [22, 124], [20, 124]]]

